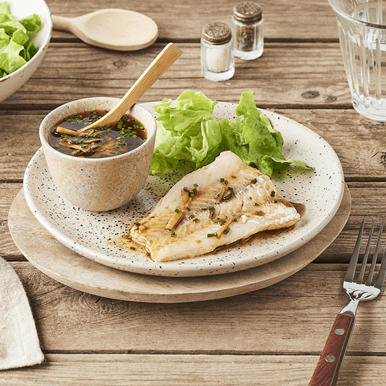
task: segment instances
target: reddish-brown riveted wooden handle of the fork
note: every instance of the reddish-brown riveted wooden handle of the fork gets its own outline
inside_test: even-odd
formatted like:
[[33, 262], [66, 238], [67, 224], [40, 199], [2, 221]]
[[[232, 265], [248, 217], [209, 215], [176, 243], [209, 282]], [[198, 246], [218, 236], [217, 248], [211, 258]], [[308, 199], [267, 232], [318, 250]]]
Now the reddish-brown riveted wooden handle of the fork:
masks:
[[309, 386], [334, 386], [354, 329], [354, 316], [338, 314]]

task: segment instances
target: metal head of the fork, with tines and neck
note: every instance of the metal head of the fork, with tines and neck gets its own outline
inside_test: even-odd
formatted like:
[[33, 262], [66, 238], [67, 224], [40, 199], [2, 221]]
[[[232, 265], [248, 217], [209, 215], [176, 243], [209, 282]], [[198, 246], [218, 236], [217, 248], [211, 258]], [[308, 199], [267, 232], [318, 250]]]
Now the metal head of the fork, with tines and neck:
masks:
[[367, 241], [367, 246], [365, 250], [365, 255], [363, 256], [362, 265], [360, 267], [360, 272], [358, 274], [358, 278], [354, 282], [354, 276], [356, 272], [356, 266], [358, 264], [358, 256], [360, 251], [360, 244], [363, 238], [363, 231], [365, 229], [365, 219], [362, 221], [362, 226], [360, 227], [360, 232], [358, 234], [358, 239], [356, 240], [356, 245], [354, 248], [354, 253], [352, 254], [352, 258], [349, 263], [349, 267], [347, 269], [347, 273], [345, 276], [345, 281], [343, 282], [343, 288], [346, 290], [347, 295], [349, 296], [349, 302], [343, 307], [341, 314], [352, 314], [355, 316], [356, 307], [358, 307], [358, 303], [364, 300], [372, 300], [376, 298], [380, 294], [382, 290], [383, 283], [385, 282], [386, 275], [386, 250], [383, 254], [382, 261], [380, 264], [380, 270], [378, 272], [378, 277], [374, 285], [372, 285], [372, 280], [374, 276], [374, 271], [376, 267], [376, 261], [378, 257], [378, 251], [380, 246], [380, 238], [382, 237], [383, 232], [383, 222], [380, 224], [380, 230], [378, 234], [378, 240], [376, 242], [376, 247], [374, 250], [374, 254], [372, 256], [372, 263], [369, 268], [369, 272], [367, 274], [367, 280], [364, 283], [365, 270], [367, 266], [367, 259], [369, 258], [370, 245], [372, 242], [372, 236], [374, 233], [374, 225], [375, 220], [372, 222], [372, 227], [369, 233], [369, 239]]

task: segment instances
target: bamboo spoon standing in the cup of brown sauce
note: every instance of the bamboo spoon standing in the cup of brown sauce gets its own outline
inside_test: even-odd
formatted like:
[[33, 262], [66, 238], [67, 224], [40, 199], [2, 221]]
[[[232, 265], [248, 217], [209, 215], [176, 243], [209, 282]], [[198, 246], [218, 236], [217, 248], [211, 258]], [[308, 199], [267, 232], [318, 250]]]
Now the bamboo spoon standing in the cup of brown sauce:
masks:
[[[145, 72], [139, 77], [139, 79], [132, 85], [130, 90], [126, 92], [121, 101], [117, 103], [114, 108], [107, 114], [103, 115], [101, 119], [85, 126], [85, 128], [73, 131], [68, 129], [57, 127], [57, 132], [68, 133], [70, 135], [78, 135], [81, 132], [88, 131], [92, 128], [106, 125], [115, 125], [116, 122], [127, 112], [132, 105], [156, 82], [157, 79], [168, 69], [170, 66], [181, 56], [182, 51], [173, 43], [169, 43], [158, 54], [156, 59], [150, 63]], [[67, 130], [67, 131], [66, 131]], [[73, 131], [73, 133], [71, 133]]]

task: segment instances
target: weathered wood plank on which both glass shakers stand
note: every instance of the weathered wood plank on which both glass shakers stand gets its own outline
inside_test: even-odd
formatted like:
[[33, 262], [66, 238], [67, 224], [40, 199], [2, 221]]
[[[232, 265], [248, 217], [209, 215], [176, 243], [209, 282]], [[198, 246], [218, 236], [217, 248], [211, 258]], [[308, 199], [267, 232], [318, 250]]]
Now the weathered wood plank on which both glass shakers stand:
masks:
[[[0, 103], [0, 110], [31, 105], [52, 109], [90, 96], [121, 97], [164, 46], [156, 43], [139, 52], [116, 52], [85, 43], [51, 43], [37, 71]], [[183, 90], [192, 89], [236, 103], [241, 92], [254, 90], [261, 107], [351, 107], [338, 43], [267, 43], [263, 57], [256, 61], [236, 58], [236, 73], [225, 82], [203, 78], [199, 43], [179, 47], [182, 56], [140, 101], [175, 99]]]

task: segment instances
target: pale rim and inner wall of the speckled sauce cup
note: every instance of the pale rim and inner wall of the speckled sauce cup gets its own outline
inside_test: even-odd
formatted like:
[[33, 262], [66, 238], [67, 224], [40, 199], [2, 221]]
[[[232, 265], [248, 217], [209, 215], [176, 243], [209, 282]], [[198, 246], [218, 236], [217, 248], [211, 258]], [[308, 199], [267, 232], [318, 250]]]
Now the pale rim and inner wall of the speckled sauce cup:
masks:
[[[50, 143], [48, 142], [48, 137], [50, 136], [50, 128], [52, 128], [53, 125], [58, 123], [61, 119], [70, 116], [72, 114], [79, 114], [81, 112], [85, 112], [88, 110], [98, 110], [101, 109], [112, 109], [116, 103], [120, 101], [119, 98], [112, 98], [108, 96], [96, 96], [93, 98], [84, 98], [84, 99], [77, 99], [76, 101], [71, 101], [68, 103], [65, 103], [64, 105], [59, 106], [58, 108], [52, 110], [43, 121], [41, 121], [41, 125], [39, 128], [39, 136], [41, 144], [43, 145], [43, 148], [45, 150], [48, 150], [50, 152], [55, 152], [57, 157], [61, 157], [63, 159], [74, 159], [76, 157], [70, 156], [68, 154], [64, 154], [61, 152], [58, 152], [57, 150], [54, 150]], [[106, 158], [77, 158], [79, 163], [104, 163], [109, 162], [113, 159], [120, 159], [120, 158], [127, 158], [128, 156], [131, 156], [132, 154], [136, 154], [141, 152], [144, 148], [147, 148], [151, 145], [153, 139], [156, 136], [156, 121], [154, 119], [154, 116], [151, 112], [149, 112], [147, 109], [143, 108], [143, 106], [139, 104], [134, 104], [130, 110], [128, 110], [126, 113], [132, 115], [135, 119], [139, 119], [139, 116], [141, 114], [145, 115], [146, 119], [148, 119], [151, 124], [146, 125], [146, 131], [148, 133], [148, 140], [145, 141], [141, 146], [138, 148], [131, 150], [128, 153], [119, 154], [117, 156], [111, 156]], [[142, 122], [141, 122], [142, 123]]]

